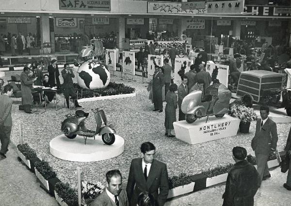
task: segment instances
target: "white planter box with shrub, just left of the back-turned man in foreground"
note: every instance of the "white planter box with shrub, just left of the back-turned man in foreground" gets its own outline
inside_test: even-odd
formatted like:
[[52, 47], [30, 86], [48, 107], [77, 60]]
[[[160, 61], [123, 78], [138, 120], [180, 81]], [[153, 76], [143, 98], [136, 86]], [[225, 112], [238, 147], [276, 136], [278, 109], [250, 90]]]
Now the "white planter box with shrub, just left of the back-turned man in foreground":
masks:
[[228, 172], [233, 164], [228, 164], [226, 166], [220, 166], [214, 169], [208, 169], [208, 171], [202, 172], [204, 175], [207, 176], [206, 179], [206, 187], [210, 187], [212, 185], [216, 185], [222, 182], [226, 182], [226, 178]]

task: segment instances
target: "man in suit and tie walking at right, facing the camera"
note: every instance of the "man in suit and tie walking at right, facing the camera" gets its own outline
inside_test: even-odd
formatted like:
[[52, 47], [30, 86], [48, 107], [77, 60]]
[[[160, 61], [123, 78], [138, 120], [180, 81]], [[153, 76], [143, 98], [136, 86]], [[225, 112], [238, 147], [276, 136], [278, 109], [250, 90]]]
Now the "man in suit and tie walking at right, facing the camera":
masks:
[[261, 106], [259, 109], [261, 119], [257, 120], [255, 137], [252, 139], [252, 149], [255, 151], [258, 165], [260, 187], [261, 181], [271, 177], [267, 160], [270, 152], [274, 152], [277, 147], [278, 135], [276, 123], [269, 115], [269, 107]]

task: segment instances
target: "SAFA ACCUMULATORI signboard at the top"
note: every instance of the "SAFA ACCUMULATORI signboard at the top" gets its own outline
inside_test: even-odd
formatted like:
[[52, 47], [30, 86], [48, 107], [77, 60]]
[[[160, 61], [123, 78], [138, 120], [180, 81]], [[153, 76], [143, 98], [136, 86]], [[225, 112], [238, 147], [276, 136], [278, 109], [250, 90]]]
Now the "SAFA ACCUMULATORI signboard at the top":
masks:
[[60, 10], [110, 11], [111, 0], [59, 0]]

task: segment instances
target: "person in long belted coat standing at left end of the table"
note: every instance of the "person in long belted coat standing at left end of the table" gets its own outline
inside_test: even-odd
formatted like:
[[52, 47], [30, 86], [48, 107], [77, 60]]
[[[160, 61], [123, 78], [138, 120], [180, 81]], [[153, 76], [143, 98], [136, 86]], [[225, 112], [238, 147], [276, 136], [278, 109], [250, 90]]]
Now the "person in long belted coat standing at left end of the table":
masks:
[[22, 73], [20, 74], [22, 105], [26, 113], [32, 113], [32, 84], [37, 79], [37, 77], [35, 77], [31, 80], [31, 78], [28, 76], [29, 72], [29, 68], [24, 67]]

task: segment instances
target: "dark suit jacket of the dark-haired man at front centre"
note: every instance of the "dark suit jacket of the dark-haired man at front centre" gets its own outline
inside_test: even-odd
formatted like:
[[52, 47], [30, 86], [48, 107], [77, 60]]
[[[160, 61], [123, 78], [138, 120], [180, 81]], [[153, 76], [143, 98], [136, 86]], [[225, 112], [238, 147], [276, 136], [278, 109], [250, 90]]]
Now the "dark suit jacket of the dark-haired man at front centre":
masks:
[[158, 206], [163, 206], [169, 192], [167, 166], [158, 160], [154, 160], [146, 181], [142, 158], [133, 159], [130, 164], [126, 191], [131, 206], [136, 206], [138, 195], [143, 191], [151, 193], [158, 202]]

